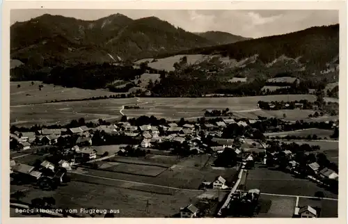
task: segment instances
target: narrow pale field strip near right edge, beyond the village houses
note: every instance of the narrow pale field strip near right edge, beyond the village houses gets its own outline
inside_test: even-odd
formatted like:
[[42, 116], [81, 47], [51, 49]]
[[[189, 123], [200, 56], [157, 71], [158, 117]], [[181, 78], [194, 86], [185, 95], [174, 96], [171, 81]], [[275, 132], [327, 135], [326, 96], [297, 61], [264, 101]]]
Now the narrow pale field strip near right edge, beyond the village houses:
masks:
[[296, 130], [296, 131], [282, 131], [282, 132], [273, 132], [273, 133], [265, 133], [264, 136], [301, 136], [306, 137], [308, 135], [316, 134], [319, 138], [330, 138], [330, 136], [333, 134], [332, 130], [326, 130], [326, 129], [317, 129], [317, 128], [311, 128], [311, 129], [303, 129], [303, 130]]

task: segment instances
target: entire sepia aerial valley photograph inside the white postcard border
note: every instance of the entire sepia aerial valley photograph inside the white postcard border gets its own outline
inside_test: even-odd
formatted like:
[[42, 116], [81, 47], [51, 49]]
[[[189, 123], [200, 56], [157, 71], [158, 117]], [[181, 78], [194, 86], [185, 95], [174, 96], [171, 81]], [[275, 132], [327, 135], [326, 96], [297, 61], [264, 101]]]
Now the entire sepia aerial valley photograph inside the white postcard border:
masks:
[[338, 218], [339, 10], [9, 19], [10, 218]]

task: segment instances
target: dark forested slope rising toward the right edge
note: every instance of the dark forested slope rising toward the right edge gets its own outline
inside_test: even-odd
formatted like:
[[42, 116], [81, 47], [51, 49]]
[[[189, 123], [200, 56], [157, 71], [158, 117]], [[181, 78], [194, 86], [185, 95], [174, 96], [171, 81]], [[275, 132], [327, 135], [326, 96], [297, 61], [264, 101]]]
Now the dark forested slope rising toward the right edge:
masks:
[[[234, 64], [243, 65], [243, 61], [256, 56], [258, 67], [263, 69], [260, 74], [264, 73], [265, 68], [287, 69], [290, 64], [301, 66], [308, 72], [319, 72], [325, 70], [328, 63], [338, 61], [339, 30], [339, 24], [315, 26], [283, 35], [178, 51], [175, 54], [161, 55], [157, 58], [191, 54], [220, 55], [228, 57], [231, 63], [234, 61]], [[249, 65], [253, 66], [255, 63], [249, 63]], [[243, 70], [247, 68], [248, 66], [243, 65]]]

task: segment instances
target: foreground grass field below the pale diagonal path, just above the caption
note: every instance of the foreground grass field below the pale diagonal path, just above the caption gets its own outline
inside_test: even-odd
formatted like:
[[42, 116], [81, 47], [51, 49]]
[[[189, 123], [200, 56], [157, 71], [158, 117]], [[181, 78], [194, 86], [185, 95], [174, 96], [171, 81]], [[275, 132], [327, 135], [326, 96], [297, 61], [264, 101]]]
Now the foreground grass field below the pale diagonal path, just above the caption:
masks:
[[[78, 210], [120, 209], [120, 214], [115, 214], [116, 217], [142, 218], [171, 216], [177, 213], [180, 207], [196, 200], [199, 194], [200, 192], [180, 191], [175, 195], [161, 195], [104, 184], [71, 182], [56, 191], [29, 191], [23, 201], [31, 202], [33, 198], [52, 196], [56, 200], [56, 207]], [[147, 202], [150, 205], [148, 211], [145, 211]]]

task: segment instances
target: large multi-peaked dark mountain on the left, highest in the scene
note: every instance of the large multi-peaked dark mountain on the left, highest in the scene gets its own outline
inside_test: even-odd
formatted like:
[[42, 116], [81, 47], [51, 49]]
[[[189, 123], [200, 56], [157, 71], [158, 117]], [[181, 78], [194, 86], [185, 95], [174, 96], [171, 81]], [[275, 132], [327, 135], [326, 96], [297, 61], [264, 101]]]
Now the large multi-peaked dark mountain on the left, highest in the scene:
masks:
[[34, 52], [48, 65], [132, 60], [216, 44], [157, 17], [121, 14], [95, 21], [45, 14], [10, 27], [11, 58], [26, 62]]

